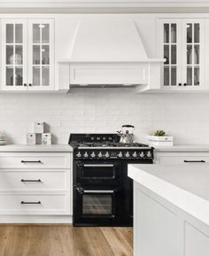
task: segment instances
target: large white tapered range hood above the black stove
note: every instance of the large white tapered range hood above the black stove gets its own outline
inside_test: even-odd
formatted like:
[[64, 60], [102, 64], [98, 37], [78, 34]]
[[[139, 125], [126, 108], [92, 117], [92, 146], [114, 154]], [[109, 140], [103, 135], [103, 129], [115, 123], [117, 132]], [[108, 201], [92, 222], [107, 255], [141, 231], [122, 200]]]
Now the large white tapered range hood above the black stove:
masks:
[[132, 19], [82, 19], [68, 64], [69, 84], [89, 87], [141, 85], [157, 89], [164, 59], [148, 58]]

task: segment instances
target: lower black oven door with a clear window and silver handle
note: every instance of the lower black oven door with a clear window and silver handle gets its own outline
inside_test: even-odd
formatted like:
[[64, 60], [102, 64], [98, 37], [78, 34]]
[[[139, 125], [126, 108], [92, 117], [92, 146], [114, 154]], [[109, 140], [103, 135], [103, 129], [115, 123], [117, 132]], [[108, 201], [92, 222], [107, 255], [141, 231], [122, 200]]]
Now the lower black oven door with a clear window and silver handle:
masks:
[[113, 226], [120, 222], [120, 191], [74, 188], [74, 226]]

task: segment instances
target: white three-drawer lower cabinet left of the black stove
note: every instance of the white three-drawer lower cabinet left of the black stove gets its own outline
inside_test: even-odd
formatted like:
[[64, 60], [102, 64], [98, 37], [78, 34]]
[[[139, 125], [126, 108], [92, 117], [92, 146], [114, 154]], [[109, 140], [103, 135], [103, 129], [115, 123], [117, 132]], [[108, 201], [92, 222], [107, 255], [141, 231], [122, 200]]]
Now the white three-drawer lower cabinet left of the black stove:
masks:
[[1, 152], [0, 218], [71, 215], [70, 153]]

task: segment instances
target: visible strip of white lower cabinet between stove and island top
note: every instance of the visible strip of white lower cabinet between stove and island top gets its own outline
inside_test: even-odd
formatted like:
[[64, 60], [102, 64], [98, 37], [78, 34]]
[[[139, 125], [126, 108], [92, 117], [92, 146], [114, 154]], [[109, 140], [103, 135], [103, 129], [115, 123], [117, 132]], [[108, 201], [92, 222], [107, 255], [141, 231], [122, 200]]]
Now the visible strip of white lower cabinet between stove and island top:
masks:
[[204, 164], [209, 163], [209, 152], [155, 152], [156, 164]]

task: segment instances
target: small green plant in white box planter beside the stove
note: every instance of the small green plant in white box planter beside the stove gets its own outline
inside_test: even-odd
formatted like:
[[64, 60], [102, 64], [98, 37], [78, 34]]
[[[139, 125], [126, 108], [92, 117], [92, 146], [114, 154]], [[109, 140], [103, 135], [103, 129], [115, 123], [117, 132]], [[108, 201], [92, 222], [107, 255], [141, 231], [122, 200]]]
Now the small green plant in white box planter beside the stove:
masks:
[[164, 130], [156, 130], [153, 135], [148, 136], [149, 142], [153, 146], [173, 146], [174, 137], [167, 136]]

